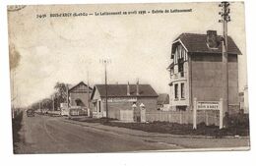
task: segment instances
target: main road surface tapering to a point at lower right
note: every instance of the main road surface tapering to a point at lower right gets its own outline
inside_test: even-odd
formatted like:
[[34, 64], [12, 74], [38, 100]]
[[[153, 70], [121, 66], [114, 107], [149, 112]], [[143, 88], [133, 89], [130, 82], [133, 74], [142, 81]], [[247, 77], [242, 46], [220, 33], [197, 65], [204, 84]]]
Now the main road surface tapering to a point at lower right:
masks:
[[18, 153], [115, 152], [176, 148], [171, 144], [82, 127], [62, 117], [24, 116]]

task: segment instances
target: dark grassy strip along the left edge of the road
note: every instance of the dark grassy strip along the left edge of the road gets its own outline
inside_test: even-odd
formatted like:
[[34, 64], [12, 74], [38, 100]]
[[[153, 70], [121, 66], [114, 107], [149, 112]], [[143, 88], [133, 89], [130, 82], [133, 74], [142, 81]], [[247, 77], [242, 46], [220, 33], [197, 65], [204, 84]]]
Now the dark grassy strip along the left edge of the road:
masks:
[[18, 148], [16, 143], [21, 141], [21, 136], [19, 135], [19, 132], [22, 129], [22, 120], [23, 120], [23, 112], [17, 113], [15, 115], [15, 118], [12, 120], [14, 153], [16, 153]]

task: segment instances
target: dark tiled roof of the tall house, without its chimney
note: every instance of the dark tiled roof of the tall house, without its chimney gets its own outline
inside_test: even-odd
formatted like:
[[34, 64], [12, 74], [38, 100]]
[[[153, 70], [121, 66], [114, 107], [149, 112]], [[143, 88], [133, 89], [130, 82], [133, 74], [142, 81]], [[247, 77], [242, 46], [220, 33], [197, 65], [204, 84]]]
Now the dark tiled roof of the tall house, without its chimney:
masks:
[[[218, 35], [217, 39], [221, 41], [222, 36]], [[220, 44], [218, 48], [209, 48], [206, 44], [207, 34], [199, 34], [199, 33], [181, 33], [174, 41], [181, 41], [183, 46], [187, 49], [188, 52], [194, 53], [222, 53], [223, 52], [223, 44]], [[174, 50], [172, 50], [174, 51]], [[227, 52], [228, 54], [237, 54], [241, 55], [241, 51], [234, 43], [233, 39], [228, 36], [227, 37]], [[171, 55], [171, 58], [173, 56]]]

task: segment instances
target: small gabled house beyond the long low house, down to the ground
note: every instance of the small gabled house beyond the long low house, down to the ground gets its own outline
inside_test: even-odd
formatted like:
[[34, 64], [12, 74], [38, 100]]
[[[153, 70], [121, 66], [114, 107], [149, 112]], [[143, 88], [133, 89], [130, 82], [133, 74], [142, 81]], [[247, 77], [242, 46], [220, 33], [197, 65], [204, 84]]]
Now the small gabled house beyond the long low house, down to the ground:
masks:
[[92, 91], [93, 88], [84, 82], [73, 85], [68, 89], [68, 107], [72, 115], [81, 115], [83, 110], [86, 111], [90, 107]]

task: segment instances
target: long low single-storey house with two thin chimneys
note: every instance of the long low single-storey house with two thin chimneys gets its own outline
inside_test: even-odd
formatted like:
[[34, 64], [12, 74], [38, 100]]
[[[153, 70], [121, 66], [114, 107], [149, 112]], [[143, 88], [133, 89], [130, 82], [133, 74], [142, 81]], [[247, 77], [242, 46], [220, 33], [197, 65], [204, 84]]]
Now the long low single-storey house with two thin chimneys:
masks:
[[[105, 88], [107, 87], [107, 88]], [[107, 89], [107, 113], [106, 113]], [[92, 93], [93, 116], [141, 121], [140, 111], [157, 110], [158, 94], [150, 84], [96, 84]], [[123, 114], [127, 116], [123, 116]], [[129, 120], [128, 120], [129, 119]], [[139, 119], [139, 120], [138, 120]]]

